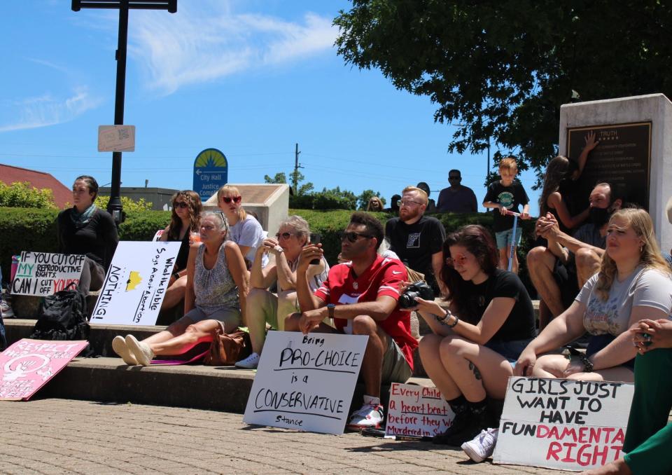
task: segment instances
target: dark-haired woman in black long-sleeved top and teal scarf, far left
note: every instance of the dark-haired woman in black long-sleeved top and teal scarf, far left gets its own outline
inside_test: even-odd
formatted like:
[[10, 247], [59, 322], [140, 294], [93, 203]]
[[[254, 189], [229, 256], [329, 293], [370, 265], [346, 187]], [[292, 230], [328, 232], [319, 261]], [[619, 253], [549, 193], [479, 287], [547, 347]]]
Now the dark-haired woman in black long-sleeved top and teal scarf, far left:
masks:
[[119, 241], [112, 216], [94, 205], [97, 195], [94, 177], [77, 177], [72, 185], [73, 207], [64, 209], [56, 219], [59, 252], [86, 256], [79, 280], [79, 289], [85, 294], [103, 286]]

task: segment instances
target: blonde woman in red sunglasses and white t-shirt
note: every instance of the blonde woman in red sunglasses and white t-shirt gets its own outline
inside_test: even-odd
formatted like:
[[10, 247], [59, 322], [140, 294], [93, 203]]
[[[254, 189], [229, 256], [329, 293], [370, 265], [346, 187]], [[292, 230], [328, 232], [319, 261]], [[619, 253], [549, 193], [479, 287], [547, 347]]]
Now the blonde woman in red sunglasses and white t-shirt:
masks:
[[[230, 239], [240, 247], [249, 269], [265, 236], [259, 221], [247, 214], [241, 206], [242, 200], [240, 191], [235, 186], [224, 185], [217, 191], [217, 205], [229, 223]], [[268, 257], [264, 254], [262, 259], [262, 266], [265, 266]]]

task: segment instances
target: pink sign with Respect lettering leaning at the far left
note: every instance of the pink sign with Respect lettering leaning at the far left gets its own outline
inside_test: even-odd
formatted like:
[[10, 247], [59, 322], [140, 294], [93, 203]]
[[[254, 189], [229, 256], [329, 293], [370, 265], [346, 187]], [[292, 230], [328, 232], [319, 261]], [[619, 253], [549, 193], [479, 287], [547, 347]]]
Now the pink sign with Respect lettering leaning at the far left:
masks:
[[89, 342], [23, 338], [0, 353], [0, 400], [27, 401]]

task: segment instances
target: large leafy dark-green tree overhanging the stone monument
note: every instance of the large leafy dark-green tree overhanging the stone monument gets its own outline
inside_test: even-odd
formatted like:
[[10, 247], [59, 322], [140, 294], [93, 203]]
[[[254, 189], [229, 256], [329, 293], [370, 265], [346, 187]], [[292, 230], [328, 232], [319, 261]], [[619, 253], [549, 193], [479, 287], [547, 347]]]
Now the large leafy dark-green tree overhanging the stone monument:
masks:
[[[448, 150], [491, 143], [539, 169], [556, 154], [561, 104], [672, 97], [672, 4], [608, 0], [352, 0], [339, 55], [427, 95], [461, 123]], [[496, 164], [496, 160], [494, 161]]]

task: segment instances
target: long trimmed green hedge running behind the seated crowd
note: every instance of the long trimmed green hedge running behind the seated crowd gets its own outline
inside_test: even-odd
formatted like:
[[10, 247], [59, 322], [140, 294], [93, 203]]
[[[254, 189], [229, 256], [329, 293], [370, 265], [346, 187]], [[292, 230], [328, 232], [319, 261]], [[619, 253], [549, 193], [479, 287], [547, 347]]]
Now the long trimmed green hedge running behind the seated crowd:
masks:
[[[3, 280], [9, 280], [11, 256], [22, 251], [56, 252], [56, 216], [57, 209], [6, 208], [0, 207], [0, 264]], [[346, 228], [350, 221], [349, 210], [318, 211], [314, 209], [290, 209], [289, 214], [303, 216], [310, 224], [311, 233], [321, 235], [325, 249], [325, 257], [330, 264], [336, 263], [340, 252], [339, 231]], [[383, 224], [392, 215], [373, 213]], [[450, 233], [465, 224], [482, 224], [492, 228], [491, 213], [470, 214], [433, 214], [439, 219], [446, 232]], [[148, 241], [154, 237], [156, 230], [165, 228], [170, 221], [168, 211], [130, 212], [119, 229], [120, 240]], [[518, 221], [524, 230], [523, 240], [518, 249], [520, 263], [519, 275], [528, 288], [533, 291], [527, 277], [525, 256], [533, 243], [534, 221]], [[269, 230], [273, 234], [276, 230]]]

